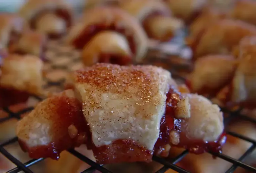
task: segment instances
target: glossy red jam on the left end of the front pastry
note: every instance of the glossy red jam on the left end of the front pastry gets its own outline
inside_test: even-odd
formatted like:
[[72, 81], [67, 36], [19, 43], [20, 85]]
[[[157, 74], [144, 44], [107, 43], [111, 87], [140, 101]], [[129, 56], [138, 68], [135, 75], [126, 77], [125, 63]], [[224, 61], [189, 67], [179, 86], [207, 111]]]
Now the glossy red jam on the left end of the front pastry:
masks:
[[[56, 98], [52, 101], [55, 109], [54, 117], [51, 117], [54, 131], [53, 141], [46, 146], [28, 147], [19, 140], [19, 144], [24, 151], [27, 151], [31, 158], [50, 157], [59, 159], [60, 153], [64, 150], [84, 144], [90, 137], [89, 127], [82, 112], [82, 105], [77, 99], [68, 99], [67, 97]], [[70, 125], [77, 129], [76, 135], [72, 138], [68, 132]], [[87, 134], [87, 135], [86, 135]]]

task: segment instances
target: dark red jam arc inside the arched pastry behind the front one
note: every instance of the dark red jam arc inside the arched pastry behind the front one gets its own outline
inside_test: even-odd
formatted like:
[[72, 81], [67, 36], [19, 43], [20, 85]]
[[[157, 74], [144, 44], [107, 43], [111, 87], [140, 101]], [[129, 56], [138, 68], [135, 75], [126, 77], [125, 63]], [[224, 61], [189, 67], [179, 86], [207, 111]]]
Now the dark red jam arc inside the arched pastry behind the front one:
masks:
[[126, 29], [116, 25], [115, 23], [112, 24], [95, 24], [86, 27], [73, 41], [73, 45], [77, 49], [82, 49], [97, 33], [105, 30], [119, 32], [126, 36], [127, 41], [129, 42], [130, 49], [133, 54], [136, 53], [136, 43], [134, 40], [133, 34], [127, 35], [125, 34]]

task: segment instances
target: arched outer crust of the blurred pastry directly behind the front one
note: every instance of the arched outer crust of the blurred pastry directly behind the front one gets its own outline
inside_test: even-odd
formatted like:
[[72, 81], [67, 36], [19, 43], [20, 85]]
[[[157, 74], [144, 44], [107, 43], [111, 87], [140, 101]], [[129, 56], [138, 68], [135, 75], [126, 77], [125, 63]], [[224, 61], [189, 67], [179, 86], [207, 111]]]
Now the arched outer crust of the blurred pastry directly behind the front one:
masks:
[[[147, 36], [140, 26], [138, 21], [127, 14], [125, 11], [116, 7], [96, 7], [85, 11], [83, 17], [80, 21], [71, 28], [70, 33], [67, 36], [67, 43], [73, 44], [74, 40], [79, 38], [85, 29], [91, 26], [102, 26], [104, 28], [109, 28], [115, 26], [117, 29], [124, 30], [124, 35], [129, 36], [134, 39], [134, 44], [136, 47], [136, 53], [134, 59], [136, 61], [142, 60], [147, 51]], [[102, 27], [100, 29], [102, 29]], [[115, 31], [115, 30], [114, 30]], [[84, 45], [89, 45], [89, 43], [82, 43]], [[100, 44], [108, 44], [108, 40], [101, 42]], [[101, 46], [103, 47], [103, 46]], [[86, 49], [86, 46], [84, 47]], [[90, 50], [88, 50], [90, 51]], [[115, 54], [115, 52], [113, 52]], [[85, 57], [94, 58], [94, 57]]]

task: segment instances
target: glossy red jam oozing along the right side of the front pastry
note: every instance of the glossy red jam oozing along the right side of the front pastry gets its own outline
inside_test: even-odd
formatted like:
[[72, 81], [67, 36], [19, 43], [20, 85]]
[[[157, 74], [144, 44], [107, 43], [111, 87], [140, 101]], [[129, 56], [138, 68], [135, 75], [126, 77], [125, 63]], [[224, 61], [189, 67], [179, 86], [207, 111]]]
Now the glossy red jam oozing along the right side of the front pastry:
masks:
[[155, 144], [155, 151], [161, 149], [161, 147], [165, 144], [171, 144], [169, 132], [171, 130], [175, 130], [176, 132], [180, 133], [180, 143], [178, 145], [171, 144], [172, 146], [185, 148], [194, 154], [202, 154], [208, 151], [221, 152], [221, 148], [226, 142], [226, 134], [223, 132], [223, 134], [221, 134], [220, 137], [213, 142], [188, 139], [185, 132], [182, 131], [182, 124], [184, 123], [184, 120], [174, 118], [176, 106], [182, 98], [181, 94], [174, 88], [170, 88], [166, 96], [166, 112], [165, 116], [163, 116], [161, 120], [160, 133]]

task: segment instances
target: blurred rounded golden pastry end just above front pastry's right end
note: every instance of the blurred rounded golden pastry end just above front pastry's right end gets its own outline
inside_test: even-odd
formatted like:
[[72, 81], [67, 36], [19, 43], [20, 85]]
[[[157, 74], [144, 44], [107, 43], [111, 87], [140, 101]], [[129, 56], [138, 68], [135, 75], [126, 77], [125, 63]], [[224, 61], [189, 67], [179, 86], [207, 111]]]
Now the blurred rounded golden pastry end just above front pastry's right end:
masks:
[[190, 91], [215, 96], [231, 82], [237, 65], [238, 61], [231, 55], [207, 55], [197, 59], [187, 79]]

